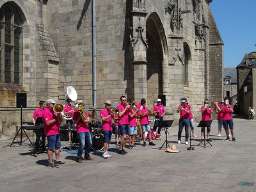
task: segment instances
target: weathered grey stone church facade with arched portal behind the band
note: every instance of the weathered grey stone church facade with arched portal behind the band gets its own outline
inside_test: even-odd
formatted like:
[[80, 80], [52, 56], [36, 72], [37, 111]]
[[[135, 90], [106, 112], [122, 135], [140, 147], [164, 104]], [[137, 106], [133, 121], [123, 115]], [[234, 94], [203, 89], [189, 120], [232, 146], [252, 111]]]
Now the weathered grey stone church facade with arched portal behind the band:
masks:
[[165, 95], [165, 120], [175, 124], [187, 97], [200, 120], [204, 99], [223, 97], [223, 41], [211, 2], [2, 0], [0, 131], [13, 135], [20, 126], [17, 92], [27, 94], [22, 119], [29, 122], [40, 100], [64, 104], [67, 86], [97, 111], [121, 95], [145, 98], [152, 109]]

